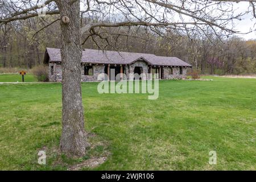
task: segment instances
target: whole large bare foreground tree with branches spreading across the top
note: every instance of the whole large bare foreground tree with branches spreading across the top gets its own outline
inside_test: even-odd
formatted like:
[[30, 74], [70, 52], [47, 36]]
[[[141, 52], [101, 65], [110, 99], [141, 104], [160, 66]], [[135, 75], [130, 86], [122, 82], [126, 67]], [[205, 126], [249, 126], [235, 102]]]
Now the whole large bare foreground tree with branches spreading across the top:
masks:
[[[184, 37], [197, 34], [205, 38], [213, 34], [217, 38], [229, 36], [235, 33], [230, 21], [240, 19], [243, 15], [234, 12], [232, 3], [203, 0], [5, 0], [0, 5], [0, 26], [3, 35], [7, 36], [7, 27], [22, 28], [26, 19], [34, 21], [38, 18], [37, 22], [44, 25], [38, 31], [60, 21], [63, 67], [60, 149], [66, 154], [84, 155], [88, 142], [81, 97], [82, 45], [86, 46], [88, 41], [92, 41], [100, 49], [115, 49], [121, 37], [143, 39], [139, 34], [142, 27], [162, 40], [171, 40], [172, 35]], [[248, 3], [253, 7], [255, 16], [254, 1]], [[45, 6], [43, 10], [42, 5]], [[42, 16], [44, 14], [46, 16]], [[49, 19], [52, 19], [51, 22], [48, 22]], [[209, 31], [206, 32], [206, 29]], [[146, 42], [144, 46], [147, 46], [147, 39], [143, 41]], [[1, 45], [5, 52], [6, 40]]]

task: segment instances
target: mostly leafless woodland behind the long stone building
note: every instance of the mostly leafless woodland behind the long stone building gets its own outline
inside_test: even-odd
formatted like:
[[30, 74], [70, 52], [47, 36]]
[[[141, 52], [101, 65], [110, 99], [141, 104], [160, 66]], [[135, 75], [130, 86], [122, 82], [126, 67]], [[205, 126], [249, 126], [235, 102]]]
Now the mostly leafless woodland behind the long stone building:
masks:
[[[51, 18], [45, 19], [46, 23]], [[83, 19], [82, 22], [89, 21]], [[24, 20], [2, 26], [0, 32], [0, 66], [32, 68], [43, 64], [46, 47], [60, 48], [60, 26], [53, 23], [43, 28], [38, 19]], [[127, 30], [130, 29], [130, 30]], [[129, 34], [122, 32], [129, 31]], [[82, 48], [115, 51], [154, 53], [158, 56], [175, 56], [193, 65], [193, 71], [203, 74], [250, 74], [256, 72], [256, 40], [238, 36], [218, 37], [207, 35], [180, 35], [166, 32], [158, 36], [147, 28], [107, 28], [108, 43], [99, 36], [90, 36]]]

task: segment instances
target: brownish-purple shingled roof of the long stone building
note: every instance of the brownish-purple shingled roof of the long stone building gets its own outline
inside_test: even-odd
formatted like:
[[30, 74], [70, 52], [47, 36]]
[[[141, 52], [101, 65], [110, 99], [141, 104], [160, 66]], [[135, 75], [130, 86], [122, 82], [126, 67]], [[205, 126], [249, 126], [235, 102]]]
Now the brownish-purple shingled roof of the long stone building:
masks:
[[[82, 63], [92, 64], [131, 64], [137, 60], [144, 60], [150, 65], [192, 67], [177, 57], [156, 56], [150, 53], [100, 51], [85, 49], [82, 51]], [[44, 63], [61, 62], [60, 49], [46, 48]]]

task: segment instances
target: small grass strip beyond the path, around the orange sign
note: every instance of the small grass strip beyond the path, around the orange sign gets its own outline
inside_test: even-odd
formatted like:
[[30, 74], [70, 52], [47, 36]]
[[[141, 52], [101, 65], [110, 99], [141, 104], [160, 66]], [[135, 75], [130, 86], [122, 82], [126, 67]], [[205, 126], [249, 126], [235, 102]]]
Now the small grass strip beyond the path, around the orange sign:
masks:
[[[24, 82], [37, 82], [38, 79], [32, 75], [27, 74], [24, 76]], [[22, 82], [22, 76], [18, 73], [14, 74], [0, 74], [0, 82]]]

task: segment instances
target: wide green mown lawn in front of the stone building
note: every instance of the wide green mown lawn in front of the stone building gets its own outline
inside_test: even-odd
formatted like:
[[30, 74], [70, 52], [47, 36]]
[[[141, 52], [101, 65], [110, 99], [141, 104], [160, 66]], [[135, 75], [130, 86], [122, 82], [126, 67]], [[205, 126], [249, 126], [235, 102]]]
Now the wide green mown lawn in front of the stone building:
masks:
[[[46, 166], [37, 154], [59, 145], [61, 84], [2, 84], [0, 169], [67, 169], [60, 160], [73, 164], [106, 150], [108, 159], [94, 169], [255, 170], [256, 79], [210, 78], [160, 81], [158, 100], [98, 94], [98, 83], [83, 83], [85, 128], [107, 144], [76, 160], [53, 150]], [[217, 152], [217, 165], [208, 164], [209, 151]]]

